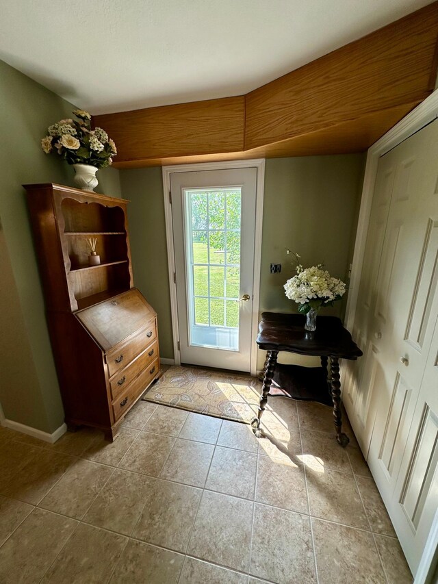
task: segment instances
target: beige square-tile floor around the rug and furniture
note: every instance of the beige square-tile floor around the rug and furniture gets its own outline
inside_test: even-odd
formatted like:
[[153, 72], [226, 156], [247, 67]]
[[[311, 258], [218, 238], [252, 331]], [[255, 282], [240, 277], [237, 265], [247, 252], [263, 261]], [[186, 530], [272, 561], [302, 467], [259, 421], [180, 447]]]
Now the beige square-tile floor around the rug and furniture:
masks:
[[245, 424], [140, 401], [113, 444], [0, 428], [0, 582], [412, 581], [352, 432], [270, 399]]

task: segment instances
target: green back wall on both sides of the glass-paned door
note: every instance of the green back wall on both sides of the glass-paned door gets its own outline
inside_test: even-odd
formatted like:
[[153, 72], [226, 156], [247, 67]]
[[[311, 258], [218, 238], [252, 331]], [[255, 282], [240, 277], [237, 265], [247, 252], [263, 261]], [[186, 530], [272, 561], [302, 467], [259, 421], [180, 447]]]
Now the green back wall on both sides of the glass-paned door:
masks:
[[[266, 160], [261, 246], [260, 310], [294, 312], [283, 289], [294, 268], [289, 248], [306, 265], [324, 262], [346, 279], [365, 155], [311, 156]], [[129, 223], [134, 281], [157, 310], [162, 357], [173, 357], [172, 322], [161, 168], [121, 170], [123, 196], [130, 199]], [[270, 264], [282, 264], [280, 274]], [[324, 314], [342, 315], [344, 303]]]

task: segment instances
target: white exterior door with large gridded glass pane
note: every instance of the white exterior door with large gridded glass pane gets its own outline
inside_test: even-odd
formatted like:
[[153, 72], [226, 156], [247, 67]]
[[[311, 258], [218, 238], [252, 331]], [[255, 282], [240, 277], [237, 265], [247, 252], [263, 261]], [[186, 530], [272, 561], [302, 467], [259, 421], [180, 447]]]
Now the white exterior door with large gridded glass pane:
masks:
[[257, 168], [170, 175], [181, 362], [250, 371]]

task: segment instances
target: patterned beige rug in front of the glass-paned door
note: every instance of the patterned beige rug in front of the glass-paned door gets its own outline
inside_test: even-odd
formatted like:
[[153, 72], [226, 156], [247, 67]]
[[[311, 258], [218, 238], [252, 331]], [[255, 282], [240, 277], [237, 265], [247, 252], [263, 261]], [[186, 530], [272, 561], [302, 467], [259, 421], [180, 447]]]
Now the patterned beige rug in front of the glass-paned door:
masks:
[[249, 424], [257, 412], [260, 391], [257, 377], [171, 366], [142, 399]]

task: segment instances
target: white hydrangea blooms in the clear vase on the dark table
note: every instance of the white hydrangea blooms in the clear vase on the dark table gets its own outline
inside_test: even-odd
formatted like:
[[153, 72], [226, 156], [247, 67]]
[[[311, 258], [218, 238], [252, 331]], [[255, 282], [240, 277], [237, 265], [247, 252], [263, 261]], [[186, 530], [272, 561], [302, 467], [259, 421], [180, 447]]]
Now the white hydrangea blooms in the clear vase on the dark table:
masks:
[[[287, 250], [287, 253], [290, 253]], [[296, 258], [300, 259], [298, 254]], [[298, 312], [307, 314], [310, 309], [318, 311], [322, 306], [332, 306], [333, 302], [342, 299], [346, 285], [342, 280], [331, 277], [322, 264], [303, 268], [296, 266], [296, 276], [287, 280], [284, 285], [285, 294], [289, 300], [298, 303]]]

